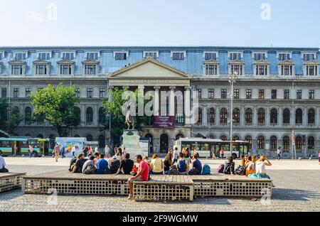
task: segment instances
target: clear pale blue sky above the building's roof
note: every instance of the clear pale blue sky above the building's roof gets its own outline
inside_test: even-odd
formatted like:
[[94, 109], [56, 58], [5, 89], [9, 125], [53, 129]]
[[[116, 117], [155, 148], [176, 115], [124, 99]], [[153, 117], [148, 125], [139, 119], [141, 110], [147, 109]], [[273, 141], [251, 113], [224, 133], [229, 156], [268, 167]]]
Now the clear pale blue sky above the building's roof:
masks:
[[320, 47], [319, 22], [318, 0], [0, 0], [0, 45]]

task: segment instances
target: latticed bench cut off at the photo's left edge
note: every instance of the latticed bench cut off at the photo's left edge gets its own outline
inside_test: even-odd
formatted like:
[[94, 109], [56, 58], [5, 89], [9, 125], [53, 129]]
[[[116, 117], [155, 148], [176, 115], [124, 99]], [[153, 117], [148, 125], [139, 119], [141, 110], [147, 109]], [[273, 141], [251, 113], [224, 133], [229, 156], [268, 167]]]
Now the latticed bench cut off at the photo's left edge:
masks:
[[24, 175], [26, 173], [0, 173], [0, 193], [21, 188]]

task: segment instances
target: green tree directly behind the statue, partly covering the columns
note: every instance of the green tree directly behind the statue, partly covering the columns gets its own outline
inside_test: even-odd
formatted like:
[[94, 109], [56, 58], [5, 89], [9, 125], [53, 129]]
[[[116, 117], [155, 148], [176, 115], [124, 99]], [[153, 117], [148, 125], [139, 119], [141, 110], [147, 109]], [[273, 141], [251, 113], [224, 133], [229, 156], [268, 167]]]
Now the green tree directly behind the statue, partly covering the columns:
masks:
[[[109, 129], [109, 124], [111, 120], [111, 138], [114, 144], [120, 144], [120, 137], [123, 134], [123, 131], [127, 129], [127, 124], [125, 123], [125, 116], [122, 113], [122, 106], [127, 102], [127, 99], [122, 99], [122, 95], [124, 92], [128, 91], [127, 89], [119, 90], [119, 88], [115, 88], [110, 95], [112, 95], [112, 101], [104, 101], [102, 103], [102, 107], [105, 109], [105, 113], [109, 114], [107, 122], [103, 125], [101, 130]], [[135, 98], [138, 100], [139, 92], [136, 90], [134, 92]], [[151, 100], [144, 99], [144, 106], [146, 103]], [[138, 107], [138, 102], [136, 101], [136, 106]], [[137, 125], [135, 125], [135, 129], [138, 131], [142, 129], [144, 125], [151, 124], [151, 117], [147, 116], [137, 116]]]

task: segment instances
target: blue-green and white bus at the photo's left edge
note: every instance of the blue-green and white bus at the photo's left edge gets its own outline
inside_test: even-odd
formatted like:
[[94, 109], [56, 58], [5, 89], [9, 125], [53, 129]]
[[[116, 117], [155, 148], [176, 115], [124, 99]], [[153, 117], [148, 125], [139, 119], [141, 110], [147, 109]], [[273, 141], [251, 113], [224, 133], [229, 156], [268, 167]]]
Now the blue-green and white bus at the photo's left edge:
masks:
[[3, 156], [27, 156], [29, 145], [33, 147], [33, 156], [48, 156], [53, 151], [49, 139], [10, 137], [0, 138], [0, 150]]

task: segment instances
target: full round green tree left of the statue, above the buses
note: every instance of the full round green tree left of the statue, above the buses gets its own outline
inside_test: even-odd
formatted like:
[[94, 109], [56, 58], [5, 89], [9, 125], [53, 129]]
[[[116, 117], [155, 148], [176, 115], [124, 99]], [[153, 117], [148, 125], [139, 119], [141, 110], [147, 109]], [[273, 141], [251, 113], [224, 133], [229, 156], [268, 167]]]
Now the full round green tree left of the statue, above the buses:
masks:
[[34, 114], [38, 119], [47, 120], [59, 136], [69, 136], [79, 126], [81, 119], [76, 104], [80, 103], [75, 87], [52, 87], [31, 94]]

